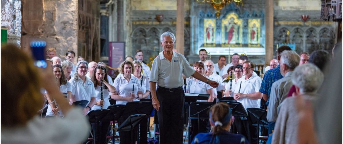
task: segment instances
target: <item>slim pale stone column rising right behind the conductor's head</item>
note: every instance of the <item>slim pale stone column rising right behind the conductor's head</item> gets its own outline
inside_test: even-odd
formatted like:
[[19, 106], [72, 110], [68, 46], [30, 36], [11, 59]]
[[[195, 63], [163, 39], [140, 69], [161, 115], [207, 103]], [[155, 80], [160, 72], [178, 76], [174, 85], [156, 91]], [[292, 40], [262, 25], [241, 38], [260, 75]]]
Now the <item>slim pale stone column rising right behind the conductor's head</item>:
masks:
[[184, 0], [176, 2], [176, 50], [184, 54], [185, 35], [185, 4]]

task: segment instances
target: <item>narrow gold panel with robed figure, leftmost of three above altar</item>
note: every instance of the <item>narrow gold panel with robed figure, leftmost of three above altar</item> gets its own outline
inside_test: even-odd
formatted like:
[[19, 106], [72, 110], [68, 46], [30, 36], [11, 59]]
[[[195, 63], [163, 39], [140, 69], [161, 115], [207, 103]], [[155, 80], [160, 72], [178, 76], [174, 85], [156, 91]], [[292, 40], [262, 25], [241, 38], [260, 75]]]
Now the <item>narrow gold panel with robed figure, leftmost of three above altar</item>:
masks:
[[204, 19], [204, 46], [215, 46], [215, 19]]

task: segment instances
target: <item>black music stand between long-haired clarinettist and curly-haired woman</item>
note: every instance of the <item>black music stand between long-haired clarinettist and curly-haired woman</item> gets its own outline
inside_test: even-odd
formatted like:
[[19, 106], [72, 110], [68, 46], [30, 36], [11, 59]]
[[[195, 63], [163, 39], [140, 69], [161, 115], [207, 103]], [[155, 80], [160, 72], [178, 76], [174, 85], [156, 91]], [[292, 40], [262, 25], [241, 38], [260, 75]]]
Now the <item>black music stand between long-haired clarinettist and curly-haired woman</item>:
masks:
[[[124, 111], [124, 108], [125, 108], [125, 105], [111, 105], [111, 106], [108, 106], [107, 109], [110, 110], [110, 112], [107, 113], [107, 115], [102, 119], [102, 121], [114, 121], [115, 120], [118, 120], [123, 111]], [[112, 133], [112, 142], [114, 143], [115, 141], [115, 132], [114, 132], [114, 127], [113, 127], [113, 133]]]

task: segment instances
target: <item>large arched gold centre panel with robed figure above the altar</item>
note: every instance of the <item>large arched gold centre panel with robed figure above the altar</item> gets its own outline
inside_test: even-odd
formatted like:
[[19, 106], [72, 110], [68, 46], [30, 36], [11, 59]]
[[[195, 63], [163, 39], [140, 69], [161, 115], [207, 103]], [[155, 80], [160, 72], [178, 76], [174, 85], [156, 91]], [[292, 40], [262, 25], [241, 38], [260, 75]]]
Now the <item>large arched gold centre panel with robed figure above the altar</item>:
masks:
[[241, 47], [243, 35], [242, 19], [236, 13], [229, 13], [222, 19], [222, 46]]

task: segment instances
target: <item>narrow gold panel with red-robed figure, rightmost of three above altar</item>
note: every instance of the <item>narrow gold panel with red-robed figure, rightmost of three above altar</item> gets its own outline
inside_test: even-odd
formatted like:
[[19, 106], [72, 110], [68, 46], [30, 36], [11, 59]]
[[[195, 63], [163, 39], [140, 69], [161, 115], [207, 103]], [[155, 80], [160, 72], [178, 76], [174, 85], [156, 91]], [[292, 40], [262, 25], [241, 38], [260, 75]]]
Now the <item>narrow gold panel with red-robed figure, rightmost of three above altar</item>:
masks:
[[248, 28], [248, 46], [249, 47], [259, 47], [260, 46], [260, 19], [249, 19]]

